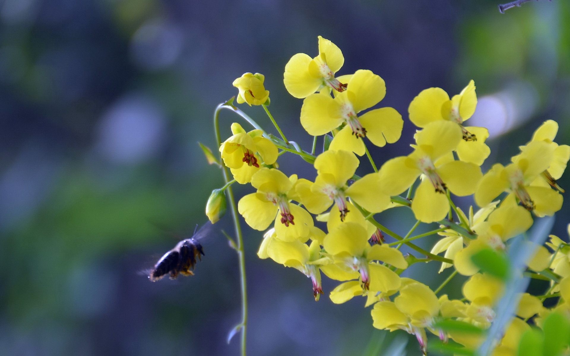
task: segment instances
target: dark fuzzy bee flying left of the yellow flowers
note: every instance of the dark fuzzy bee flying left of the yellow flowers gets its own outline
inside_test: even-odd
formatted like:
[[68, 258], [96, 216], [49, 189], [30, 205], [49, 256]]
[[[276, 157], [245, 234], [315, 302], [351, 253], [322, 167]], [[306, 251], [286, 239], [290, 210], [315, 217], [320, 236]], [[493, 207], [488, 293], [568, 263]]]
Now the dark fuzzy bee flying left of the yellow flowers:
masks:
[[194, 231], [192, 238], [182, 240], [160, 257], [160, 260], [150, 270], [148, 278], [156, 282], [166, 275], [170, 275], [170, 279], [176, 279], [179, 274], [193, 276], [194, 265], [198, 260], [202, 260], [202, 256], [205, 256], [198, 240], [206, 236], [209, 230], [207, 227], [210, 226], [210, 223], [206, 223], [198, 232]]

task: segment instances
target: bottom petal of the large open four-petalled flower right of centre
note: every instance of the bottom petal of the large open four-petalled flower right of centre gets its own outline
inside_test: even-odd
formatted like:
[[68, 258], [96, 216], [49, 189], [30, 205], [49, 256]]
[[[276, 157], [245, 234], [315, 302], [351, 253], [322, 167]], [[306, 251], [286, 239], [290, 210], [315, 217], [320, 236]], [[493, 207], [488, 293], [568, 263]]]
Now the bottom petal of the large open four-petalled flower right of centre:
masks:
[[435, 191], [429, 179], [425, 178], [412, 199], [412, 211], [421, 222], [433, 223], [445, 218], [449, 202], [446, 195]]

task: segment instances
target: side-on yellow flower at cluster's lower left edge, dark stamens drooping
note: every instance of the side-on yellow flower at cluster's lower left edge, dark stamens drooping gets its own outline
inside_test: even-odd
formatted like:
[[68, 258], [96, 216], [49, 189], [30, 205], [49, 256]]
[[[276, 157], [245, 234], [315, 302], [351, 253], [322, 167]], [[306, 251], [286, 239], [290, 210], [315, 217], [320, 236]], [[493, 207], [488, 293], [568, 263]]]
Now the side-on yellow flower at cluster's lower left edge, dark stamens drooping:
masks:
[[309, 277], [313, 283], [313, 296], [318, 301], [320, 294], [323, 294], [319, 268], [330, 262], [328, 257], [321, 256], [320, 251], [319, 242], [316, 240], [311, 242], [310, 246], [299, 240], [285, 242], [277, 238], [275, 230], [271, 229], [264, 236], [258, 255], [261, 258], [270, 257], [285, 267], [296, 268]]

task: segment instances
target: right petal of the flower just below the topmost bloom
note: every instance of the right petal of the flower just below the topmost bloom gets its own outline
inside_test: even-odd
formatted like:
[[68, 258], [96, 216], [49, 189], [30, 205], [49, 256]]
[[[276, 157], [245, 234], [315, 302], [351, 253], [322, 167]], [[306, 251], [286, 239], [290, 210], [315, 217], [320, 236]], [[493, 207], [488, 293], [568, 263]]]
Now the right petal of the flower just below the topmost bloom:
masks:
[[359, 118], [360, 124], [367, 130], [366, 137], [376, 146], [384, 147], [386, 142], [393, 144], [400, 140], [404, 120], [394, 108], [371, 110]]

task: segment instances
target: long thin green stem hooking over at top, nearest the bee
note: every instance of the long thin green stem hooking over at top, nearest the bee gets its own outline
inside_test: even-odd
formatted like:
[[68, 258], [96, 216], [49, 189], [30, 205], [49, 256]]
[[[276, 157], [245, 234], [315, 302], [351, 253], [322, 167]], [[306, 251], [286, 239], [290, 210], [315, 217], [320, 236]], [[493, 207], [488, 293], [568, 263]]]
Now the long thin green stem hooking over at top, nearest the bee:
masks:
[[[219, 112], [221, 111], [221, 109], [231, 109], [231, 110], [239, 113], [239, 109], [234, 109], [234, 108], [229, 107], [228, 105], [225, 105], [225, 104], [220, 104], [216, 107], [216, 109], [214, 111], [214, 131], [215, 131], [218, 147], [222, 145], [222, 138], [221, 138], [220, 133], [219, 133], [219, 123], [218, 123]], [[241, 115], [241, 116], [244, 118], [247, 117], [247, 115], [245, 115], [245, 116]], [[246, 118], [246, 120], [247, 120], [247, 118]], [[247, 121], [249, 122], [249, 120], [247, 120]], [[255, 121], [254, 121], [254, 123], [255, 123]], [[254, 125], [254, 123], [250, 122], [250, 124], [252, 124], [252, 125]], [[257, 125], [257, 124], [255, 124], [255, 125]], [[259, 128], [259, 129], [261, 129], [261, 128]], [[241, 224], [239, 223], [238, 210], [237, 210], [237, 207], [235, 206], [234, 193], [233, 193], [233, 190], [231, 189], [231, 184], [229, 184], [230, 183], [230, 173], [228, 172], [226, 165], [223, 163], [223, 159], [221, 159], [220, 161], [222, 164], [223, 179], [227, 185], [227, 197], [228, 197], [228, 200], [230, 202], [231, 215], [233, 216], [233, 219], [234, 219], [235, 236], [237, 238], [237, 246], [236, 246], [235, 250], [238, 253], [239, 277], [240, 277], [239, 280], [240, 280], [240, 284], [241, 284], [241, 294], [242, 294], [242, 322], [241, 322], [241, 324], [242, 324], [242, 328], [241, 328], [241, 336], [242, 336], [241, 351], [242, 352], [241, 353], [242, 353], [242, 356], [246, 356], [247, 284], [246, 284], [246, 261], [245, 261], [245, 253], [243, 252], [242, 228], [241, 228]]]

